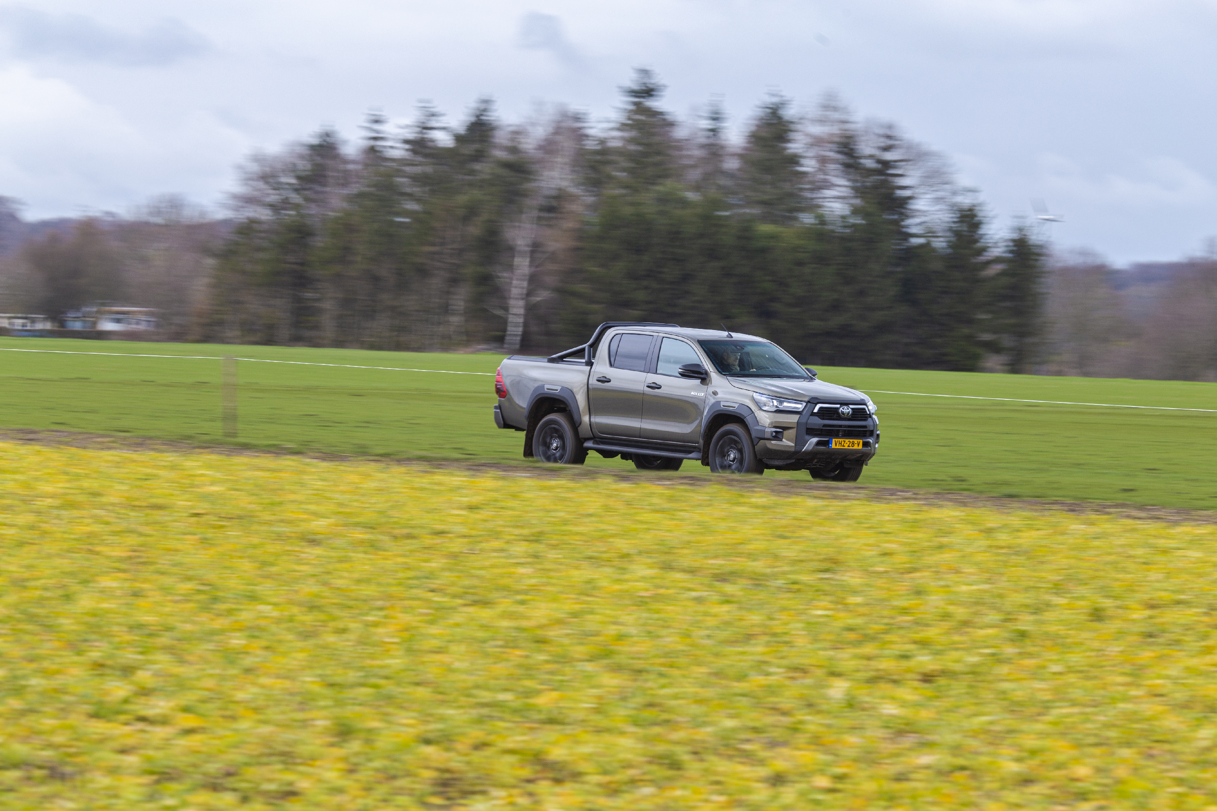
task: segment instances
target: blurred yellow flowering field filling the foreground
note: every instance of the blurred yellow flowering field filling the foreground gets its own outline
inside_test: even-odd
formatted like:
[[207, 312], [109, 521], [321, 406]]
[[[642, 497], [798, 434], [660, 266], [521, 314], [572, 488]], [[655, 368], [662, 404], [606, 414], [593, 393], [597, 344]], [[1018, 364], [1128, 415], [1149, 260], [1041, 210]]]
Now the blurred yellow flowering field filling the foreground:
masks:
[[0, 444], [2, 809], [1212, 809], [1217, 528]]

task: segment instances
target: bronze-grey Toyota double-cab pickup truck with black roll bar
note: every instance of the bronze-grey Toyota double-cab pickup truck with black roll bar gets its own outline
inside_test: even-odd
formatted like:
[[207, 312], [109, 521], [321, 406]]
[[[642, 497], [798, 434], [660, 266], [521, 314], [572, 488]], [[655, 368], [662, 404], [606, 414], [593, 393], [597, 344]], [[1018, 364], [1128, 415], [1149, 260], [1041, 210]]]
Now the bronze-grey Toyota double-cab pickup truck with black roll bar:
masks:
[[525, 456], [544, 462], [582, 464], [595, 451], [652, 471], [700, 461], [714, 473], [857, 481], [879, 446], [870, 398], [725, 330], [601, 323], [573, 349], [506, 357], [494, 390], [494, 423], [523, 432]]

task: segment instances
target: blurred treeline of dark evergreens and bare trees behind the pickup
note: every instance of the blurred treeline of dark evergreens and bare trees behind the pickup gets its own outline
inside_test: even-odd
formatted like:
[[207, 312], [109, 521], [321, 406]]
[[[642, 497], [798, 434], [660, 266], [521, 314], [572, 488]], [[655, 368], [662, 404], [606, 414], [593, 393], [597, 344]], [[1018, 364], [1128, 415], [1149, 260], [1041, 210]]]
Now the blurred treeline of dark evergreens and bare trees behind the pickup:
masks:
[[604, 125], [481, 100], [455, 125], [371, 114], [354, 145], [321, 130], [252, 157], [224, 220], [166, 197], [27, 240], [0, 306], [122, 300], [179, 340], [427, 351], [722, 323], [808, 364], [1217, 377], [1212, 339], [1165, 321], [1215, 334], [1210, 264], [1134, 302], [1028, 224], [997, 232], [938, 154], [832, 97], [763, 98], [733, 140], [719, 105], [682, 120], [662, 91], [638, 71]]

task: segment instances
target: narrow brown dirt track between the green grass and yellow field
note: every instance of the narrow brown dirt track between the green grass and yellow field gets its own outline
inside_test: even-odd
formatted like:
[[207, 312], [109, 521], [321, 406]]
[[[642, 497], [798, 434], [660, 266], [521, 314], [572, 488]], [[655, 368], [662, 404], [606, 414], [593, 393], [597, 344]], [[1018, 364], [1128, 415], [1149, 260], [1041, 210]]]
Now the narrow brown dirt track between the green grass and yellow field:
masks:
[[[114, 437], [110, 434], [88, 434], [69, 430], [39, 430], [33, 428], [0, 429], [0, 441], [24, 443], [30, 445], [54, 445], [60, 447], [82, 447], [89, 450], [107, 450], [119, 452], [161, 452], [161, 454], [217, 454], [220, 456], [293, 456], [330, 462], [364, 462], [369, 464], [391, 464], [399, 467], [467, 471], [495, 475], [518, 475], [535, 478], [554, 477], [607, 477], [619, 480], [640, 481], [640, 474], [632, 468], [621, 471], [605, 468], [582, 468], [573, 466], [540, 464], [537, 462], [449, 462], [438, 460], [386, 458], [382, 456], [355, 456], [344, 454], [299, 454], [276, 451], [273, 449], [240, 447], [232, 445], [203, 445], [195, 443], [145, 439], [140, 437]], [[941, 492], [932, 490], [905, 490], [901, 488], [876, 488], [864, 484], [835, 484], [826, 481], [806, 481], [790, 479], [765, 479], [762, 477], [705, 477], [682, 475], [680, 473], [656, 473], [646, 478], [652, 484], [688, 486], [729, 486], [744, 490], [769, 490], [783, 496], [812, 495], [819, 499], [865, 499], [869, 501], [897, 501], [905, 503], [925, 503], [955, 507], [986, 507], [992, 509], [1019, 509], [1032, 512], [1067, 512], [1083, 516], [1115, 516], [1138, 520], [1157, 520], [1170, 523], [1217, 524], [1217, 512], [1204, 509], [1177, 509], [1173, 507], [1154, 507], [1103, 501], [1049, 501], [1044, 499], [1002, 499], [971, 492]]]

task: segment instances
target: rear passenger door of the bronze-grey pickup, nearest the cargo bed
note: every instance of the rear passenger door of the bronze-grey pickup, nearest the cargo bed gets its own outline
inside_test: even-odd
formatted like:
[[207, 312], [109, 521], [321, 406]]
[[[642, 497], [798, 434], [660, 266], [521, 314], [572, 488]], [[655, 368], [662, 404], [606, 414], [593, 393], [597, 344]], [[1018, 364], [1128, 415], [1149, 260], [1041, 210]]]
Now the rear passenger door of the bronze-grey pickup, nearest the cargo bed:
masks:
[[596, 437], [638, 439], [643, 424], [643, 385], [651, 336], [619, 332], [601, 344], [588, 379], [588, 411]]

